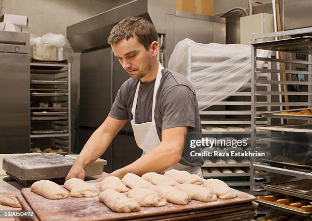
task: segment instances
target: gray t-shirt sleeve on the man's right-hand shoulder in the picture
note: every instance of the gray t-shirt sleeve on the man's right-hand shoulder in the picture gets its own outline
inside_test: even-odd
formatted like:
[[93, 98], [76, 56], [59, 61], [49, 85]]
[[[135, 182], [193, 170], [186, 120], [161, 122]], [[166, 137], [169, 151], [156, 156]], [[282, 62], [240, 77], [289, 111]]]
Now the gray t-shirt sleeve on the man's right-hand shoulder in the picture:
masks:
[[170, 88], [163, 95], [162, 130], [172, 127], [195, 128], [195, 95], [184, 85]]

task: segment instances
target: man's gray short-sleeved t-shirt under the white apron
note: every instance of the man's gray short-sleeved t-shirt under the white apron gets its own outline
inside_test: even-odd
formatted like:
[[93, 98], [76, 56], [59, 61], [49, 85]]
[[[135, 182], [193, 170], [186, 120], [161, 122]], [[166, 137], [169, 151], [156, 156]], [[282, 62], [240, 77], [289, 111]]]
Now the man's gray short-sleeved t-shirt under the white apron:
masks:
[[[112, 105], [109, 116], [118, 120], [132, 120], [131, 113], [135, 91], [139, 80], [129, 78], [121, 85], [115, 101]], [[136, 108], [136, 124], [151, 121], [152, 99], [155, 80], [140, 84], [138, 101]], [[162, 141], [162, 130], [186, 126], [188, 134], [190, 132], [201, 133], [201, 124], [199, 118], [198, 103], [195, 90], [188, 79], [179, 73], [168, 70], [162, 70], [162, 79], [156, 95], [156, 104], [154, 109], [155, 124], [160, 141]], [[184, 151], [181, 164], [201, 165], [202, 157], [189, 157], [190, 150]], [[193, 151], [193, 150], [192, 150]], [[195, 150], [196, 151], [196, 150]], [[196, 152], [200, 152], [197, 150]]]

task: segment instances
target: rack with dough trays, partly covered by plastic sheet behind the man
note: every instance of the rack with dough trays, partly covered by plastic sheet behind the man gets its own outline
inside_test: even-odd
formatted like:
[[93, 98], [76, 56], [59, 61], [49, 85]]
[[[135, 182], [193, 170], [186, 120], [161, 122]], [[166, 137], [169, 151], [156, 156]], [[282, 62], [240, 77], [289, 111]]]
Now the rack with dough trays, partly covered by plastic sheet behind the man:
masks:
[[[266, 64], [266, 67], [267, 64]], [[267, 79], [267, 74], [262, 73], [261, 77]], [[266, 87], [266, 85], [261, 85]], [[234, 92], [229, 95], [223, 101], [216, 103], [215, 105], [207, 108], [204, 111], [199, 112], [201, 117], [202, 125], [212, 125], [212, 126], [238, 126], [238, 127], [250, 127], [251, 126], [251, 82], [247, 82], [238, 92]], [[260, 112], [257, 112], [256, 123], [257, 125], [266, 125], [270, 123], [270, 120], [262, 118], [259, 116]], [[222, 118], [222, 119], [221, 119]], [[257, 131], [259, 135], [266, 134], [264, 131]], [[234, 137], [235, 139], [248, 139], [248, 146], [250, 147], [251, 131], [202, 131], [203, 136], [214, 136], [218, 138], [224, 137]], [[244, 149], [243, 151], [248, 151]], [[233, 168], [240, 167], [241, 170], [246, 173], [236, 174], [236, 173], [205, 173], [203, 172], [204, 178], [218, 178], [222, 179], [227, 185], [232, 188], [239, 189], [241, 191], [250, 192], [250, 163], [240, 163], [241, 157], [237, 157], [237, 163], [204, 163], [202, 168], [218, 168], [224, 167], [232, 170]], [[250, 160], [250, 157], [246, 159]]]

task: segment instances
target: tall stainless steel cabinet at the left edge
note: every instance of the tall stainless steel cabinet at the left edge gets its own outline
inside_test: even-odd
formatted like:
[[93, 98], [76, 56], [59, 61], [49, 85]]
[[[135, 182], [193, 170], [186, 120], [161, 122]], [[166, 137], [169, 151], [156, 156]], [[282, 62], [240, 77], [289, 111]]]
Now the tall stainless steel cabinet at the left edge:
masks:
[[30, 152], [29, 34], [0, 32], [0, 153]]

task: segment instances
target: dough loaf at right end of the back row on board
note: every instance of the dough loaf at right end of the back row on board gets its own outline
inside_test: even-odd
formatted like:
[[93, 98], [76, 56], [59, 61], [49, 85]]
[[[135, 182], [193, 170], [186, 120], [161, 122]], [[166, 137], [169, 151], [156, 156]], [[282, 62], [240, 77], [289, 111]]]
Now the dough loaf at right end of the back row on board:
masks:
[[202, 184], [202, 179], [187, 171], [170, 170], [165, 172], [165, 176], [171, 177], [178, 183], [191, 183], [196, 185]]

